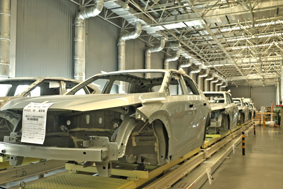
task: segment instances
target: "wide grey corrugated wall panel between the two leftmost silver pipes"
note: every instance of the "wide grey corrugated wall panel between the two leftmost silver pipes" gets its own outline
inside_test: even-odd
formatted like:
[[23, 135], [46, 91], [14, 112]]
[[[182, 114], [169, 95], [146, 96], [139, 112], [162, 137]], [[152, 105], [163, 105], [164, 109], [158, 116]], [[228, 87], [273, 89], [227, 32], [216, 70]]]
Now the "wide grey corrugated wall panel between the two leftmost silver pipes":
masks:
[[74, 18], [68, 0], [18, 0], [16, 76], [73, 77]]

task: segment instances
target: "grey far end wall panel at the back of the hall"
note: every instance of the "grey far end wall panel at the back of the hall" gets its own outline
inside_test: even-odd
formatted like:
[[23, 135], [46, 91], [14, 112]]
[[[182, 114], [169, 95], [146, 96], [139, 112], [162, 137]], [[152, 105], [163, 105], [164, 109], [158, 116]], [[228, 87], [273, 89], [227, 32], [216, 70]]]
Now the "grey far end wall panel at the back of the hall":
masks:
[[260, 109], [261, 106], [271, 106], [271, 102], [275, 104], [276, 89], [272, 87], [253, 87], [252, 100], [254, 106]]

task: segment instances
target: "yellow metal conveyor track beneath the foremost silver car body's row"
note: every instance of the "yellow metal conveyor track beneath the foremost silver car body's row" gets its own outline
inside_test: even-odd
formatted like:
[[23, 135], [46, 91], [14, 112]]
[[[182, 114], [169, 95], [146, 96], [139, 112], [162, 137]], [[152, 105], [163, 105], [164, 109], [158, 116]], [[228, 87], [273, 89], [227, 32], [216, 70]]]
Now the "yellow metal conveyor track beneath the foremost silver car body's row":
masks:
[[[25, 188], [50, 189], [51, 183], [53, 188], [60, 189], [78, 188], [77, 183], [80, 184], [80, 188], [85, 189], [96, 189], [103, 187], [108, 189], [171, 188], [174, 183], [190, 173], [193, 169], [195, 169], [195, 167], [205, 162], [205, 160], [210, 158], [212, 154], [214, 154], [221, 147], [241, 134], [242, 131], [245, 131], [250, 126], [252, 126], [251, 121], [239, 126], [234, 131], [225, 133], [224, 135], [209, 135], [207, 138], [211, 138], [213, 140], [206, 140], [206, 149], [195, 149], [185, 156], [162, 166], [146, 165], [146, 171], [135, 170], [136, 164], [112, 162], [112, 165], [114, 166], [114, 168], [112, 168], [112, 175], [119, 175], [127, 179], [92, 176], [90, 174], [95, 174], [97, 172], [95, 166], [83, 168], [83, 165], [80, 163], [66, 163], [65, 168], [70, 171], [65, 175], [53, 177], [51, 179], [44, 178], [42, 182], [40, 182], [41, 179], [39, 179], [36, 182], [33, 182], [34, 184], [29, 185], [27, 183]], [[217, 165], [218, 164], [221, 164], [221, 161], [218, 161]], [[164, 175], [156, 179], [157, 176], [162, 174]], [[205, 178], [204, 174], [201, 174], [200, 176], [202, 180], [207, 180], [208, 178], [207, 176]], [[152, 181], [153, 179], [154, 181]], [[200, 179], [196, 180], [195, 183], [190, 187], [195, 188], [197, 185], [196, 183], [200, 184]]]

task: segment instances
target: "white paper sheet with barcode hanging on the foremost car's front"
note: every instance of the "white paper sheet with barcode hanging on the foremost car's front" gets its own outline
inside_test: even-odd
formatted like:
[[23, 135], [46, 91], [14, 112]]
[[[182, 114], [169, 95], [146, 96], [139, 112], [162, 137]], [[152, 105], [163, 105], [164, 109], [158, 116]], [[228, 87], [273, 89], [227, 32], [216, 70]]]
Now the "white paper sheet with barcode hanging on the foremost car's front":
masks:
[[21, 142], [43, 144], [47, 109], [53, 103], [29, 103], [23, 110]]

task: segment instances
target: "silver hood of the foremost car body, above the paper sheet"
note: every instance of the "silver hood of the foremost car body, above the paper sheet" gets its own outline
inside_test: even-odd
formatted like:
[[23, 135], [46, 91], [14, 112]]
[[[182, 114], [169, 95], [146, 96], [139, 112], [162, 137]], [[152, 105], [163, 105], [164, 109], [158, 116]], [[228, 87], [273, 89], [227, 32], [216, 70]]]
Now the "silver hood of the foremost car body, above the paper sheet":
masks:
[[145, 99], [165, 97], [165, 92], [136, 94], [82, 94], [18, 98], [8, 102], [2, 110], [22, 110], [30, 102], [54, 103], [49, 110], [89, 111], [141, 103]]

